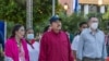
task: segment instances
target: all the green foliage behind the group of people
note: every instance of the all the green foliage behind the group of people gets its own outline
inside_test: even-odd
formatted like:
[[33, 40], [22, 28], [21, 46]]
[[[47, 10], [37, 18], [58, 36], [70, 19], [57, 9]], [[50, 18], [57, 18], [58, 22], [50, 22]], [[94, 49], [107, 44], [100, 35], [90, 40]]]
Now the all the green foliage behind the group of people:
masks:
[[[78, 29], [78, 23], [86, 21], [89, 16], [97, 16], [100, 20], [100, 28], [107, 29], [107, 22], [109, 22], [109, 11], [105, 14], [89, 13], [86, 16], [84, 14], [65, 15], [63, 7], [56, 4], [56, 13], [62, 19], [62, 28], [76, 33]], [[26, 25], [26, 0], [0, 0], [0, 20], [8, 22], [8, 33], [11, 32], [12, 26], [16, 23]], [[49, 17], [52, 13], [52, 0], [33, 0], [33, 23], [36, 33], [43, 32], [44, 27], [49, 24]], [[10, 34], [9, 34], [10, 35]]]

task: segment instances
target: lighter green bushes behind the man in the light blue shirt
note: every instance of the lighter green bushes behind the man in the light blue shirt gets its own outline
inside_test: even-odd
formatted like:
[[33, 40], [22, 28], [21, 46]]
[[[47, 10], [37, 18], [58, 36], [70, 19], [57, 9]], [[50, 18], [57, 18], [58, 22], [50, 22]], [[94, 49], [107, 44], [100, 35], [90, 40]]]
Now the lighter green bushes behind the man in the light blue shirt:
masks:
[[109, 23], [109, 17], [104, 19], [105, 15], [109, 13], [89, 13], [87, 15], [83, 15], [81, 13], [76, 14], [73, 13], [70, 16], [64, 15], [64, 13], [60, 13], [60, 16], [62, 17], [62, 23], [63, 23], [63, 29], [70, 32], [70, 33], [76, 33], [78, 30], [78, 23], [81, 22], [87, 22], [88, 17], [90, 16], [96, 16], [99, 20], [99, 28], [107, 32], [108, 30], [108, 23]]

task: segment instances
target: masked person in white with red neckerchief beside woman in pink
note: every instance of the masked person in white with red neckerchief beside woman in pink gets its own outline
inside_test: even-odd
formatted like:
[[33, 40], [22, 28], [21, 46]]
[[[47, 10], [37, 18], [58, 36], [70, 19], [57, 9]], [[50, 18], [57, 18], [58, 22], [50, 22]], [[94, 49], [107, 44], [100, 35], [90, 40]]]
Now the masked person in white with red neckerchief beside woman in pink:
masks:
[[33, 28], [26, 30], [27, 49], [29, 53], [29, 61], [38, 61], [39, 56], [39, 40], [35, 40]]

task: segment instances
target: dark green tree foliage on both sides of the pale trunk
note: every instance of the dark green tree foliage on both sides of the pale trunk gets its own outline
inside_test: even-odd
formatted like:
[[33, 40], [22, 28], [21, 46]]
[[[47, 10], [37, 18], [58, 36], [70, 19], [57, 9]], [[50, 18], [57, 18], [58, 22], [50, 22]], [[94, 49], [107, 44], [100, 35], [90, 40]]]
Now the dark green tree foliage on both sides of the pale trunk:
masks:
[[[56, 0], [58, 3], [58, 0]], [[26, 25], [26, 0], [0, 0], [0, 20]], [[41, 32], [51, 16], [52, 0], [33, 0], [33, 23], [36, 32]], [[41, 27], [40, 27], [41, 26]], [[10, 33], [10, 32], [8, 32]]]

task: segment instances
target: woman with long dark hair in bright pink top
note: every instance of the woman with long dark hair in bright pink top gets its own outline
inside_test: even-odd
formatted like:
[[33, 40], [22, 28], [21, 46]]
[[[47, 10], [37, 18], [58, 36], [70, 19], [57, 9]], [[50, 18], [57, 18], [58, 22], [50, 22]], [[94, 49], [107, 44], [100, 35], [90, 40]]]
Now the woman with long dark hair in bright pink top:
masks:
[[12, 36], [5, 42], [5, 61], [29, 61], [24, 34], [23, 25], [17, 24], [13, 27]]

